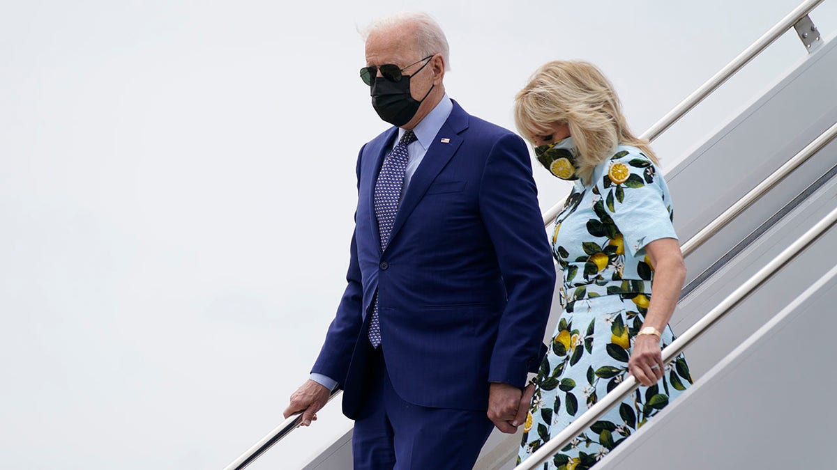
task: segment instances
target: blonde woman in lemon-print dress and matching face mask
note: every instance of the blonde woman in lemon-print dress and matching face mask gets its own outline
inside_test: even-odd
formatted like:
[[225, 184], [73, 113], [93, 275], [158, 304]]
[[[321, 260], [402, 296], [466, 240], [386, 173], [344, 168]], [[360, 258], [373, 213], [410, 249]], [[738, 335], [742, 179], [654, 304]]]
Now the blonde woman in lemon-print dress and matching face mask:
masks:
[[515, 120], [537, 161], [575, 181], [552, 232], [563, 311], [534, 385], [519, 458], [525, 459], [628, 375], [642, 386], [614, 406], [550, 468], [593, 466], [686, 386], [680, 356], [660, 355], [686, 267], [668, 187], [645, 140], [631, 134], [613, 86], [592, 64], [556, 61], [515, 99]]

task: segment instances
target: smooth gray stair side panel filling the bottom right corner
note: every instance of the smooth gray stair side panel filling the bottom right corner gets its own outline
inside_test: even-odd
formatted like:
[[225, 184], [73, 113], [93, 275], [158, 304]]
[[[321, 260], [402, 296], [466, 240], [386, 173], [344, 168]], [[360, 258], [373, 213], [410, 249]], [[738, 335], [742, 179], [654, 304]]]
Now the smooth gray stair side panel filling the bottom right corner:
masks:
[[[814, 251], [833, 247], [835, 238], [821, 240]], [[799, 268], [807, 269], [804, 264], [794, 269]], [[831, 406], [837, 387], [835, 273], [831, 270], [829, 281], [813, 295], [778, 314], [597, 469], [837, 468], [832, 447], [837, 408]]]

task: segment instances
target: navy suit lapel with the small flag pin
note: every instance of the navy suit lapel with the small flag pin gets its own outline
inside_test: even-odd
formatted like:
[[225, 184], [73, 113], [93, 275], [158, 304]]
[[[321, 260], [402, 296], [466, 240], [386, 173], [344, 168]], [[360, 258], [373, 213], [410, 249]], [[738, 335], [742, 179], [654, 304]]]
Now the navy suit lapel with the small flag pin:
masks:
[[398, 214], [395, 216], [393, 232], [389, 235], [390, 244], [398, 234], [398, 229], [403, 226], [404, 221], [407, 220], [421, 198], [424, 197], [430, 183], [434, 181], [436, 176], [439, 175], [439, 171], [442, 171], [462, 145], [463, 139], [459, 133], [467, 127], [468, 115], [454, 101], [454, 109], [450, 112], [448, 120], [439, 129], [439, 133], [436, 134], [433, 143], [430, 144], [427, 153], [424, 154], [424, 159], [413, 173], [410, 186], [408, 186], [407, 193], [404, 194], [401, 205], [398, 207]]

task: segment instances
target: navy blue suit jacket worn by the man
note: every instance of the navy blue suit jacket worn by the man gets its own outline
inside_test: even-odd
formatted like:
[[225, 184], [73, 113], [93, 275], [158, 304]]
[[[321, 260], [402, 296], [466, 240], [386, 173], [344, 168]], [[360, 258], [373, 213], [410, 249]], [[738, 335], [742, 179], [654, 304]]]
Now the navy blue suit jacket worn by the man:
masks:
[[393, 127], [357, 158], [348, 285], [313, 372], [340, 381], [352, 416], [362, 396], [370, 304], [378, 292], [393, 388], [419, 406], [485, 410], [490, 382], [522, 387], [542, 359], [555, 268], [526, 144], [454, 109], [403, 195], [386, 251], [373, 194]]

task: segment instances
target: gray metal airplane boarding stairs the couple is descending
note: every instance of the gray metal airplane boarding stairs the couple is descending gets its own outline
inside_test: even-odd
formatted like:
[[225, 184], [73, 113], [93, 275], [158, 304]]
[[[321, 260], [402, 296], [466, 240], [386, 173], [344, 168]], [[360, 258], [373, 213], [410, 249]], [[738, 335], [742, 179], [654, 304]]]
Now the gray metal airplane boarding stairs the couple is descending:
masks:
[[[812, 44], [811, 54], [665, 174], [688, 268], [671, 320], [676, 334], [706, 321], [779, 253], [837, 214], [837, 41], [819, 38], [809, 23], [806, 15], [819, 3], [805, 2], [788, 15], [803, 43]], [[803, 37], [800, 28], [817, 38]], [[837, 419], [829, 403], [837, 386], [831, 370], [837, 359], [835, 247], [837, 227], [825, 226], [690, 342], [685, 354], [695, 385], [596, 468], [837, 468], [829, 446]], [[560, 314], [557, 299], [552, 307], [547, 341]], [[351, 468], [351, 435], [324, 447], [306, 470]], [[520, 438], [520, 432], [495, 430], [475, 468], [514, 468]], [[272, 445], [267, 440], [228, 470], [252, 462]]]

